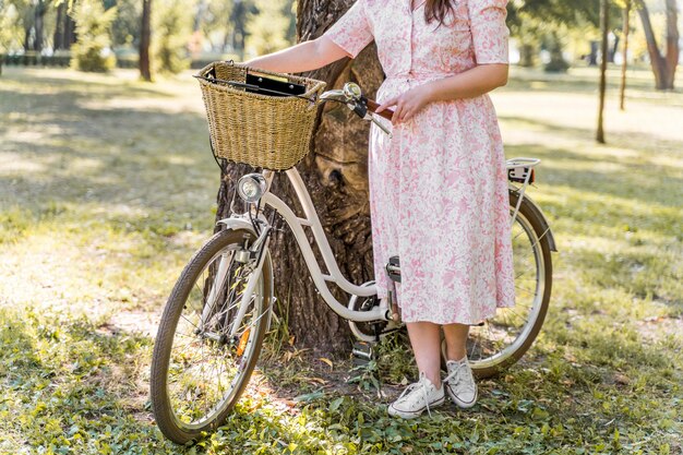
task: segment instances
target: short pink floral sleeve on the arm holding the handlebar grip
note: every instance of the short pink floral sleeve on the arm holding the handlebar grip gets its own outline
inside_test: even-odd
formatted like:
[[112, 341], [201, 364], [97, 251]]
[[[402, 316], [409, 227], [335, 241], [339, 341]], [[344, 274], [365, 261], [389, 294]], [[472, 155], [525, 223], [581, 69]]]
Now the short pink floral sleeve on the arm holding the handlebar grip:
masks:
[[468, 0], [475, 59], [478, 64], [510, 62], [506, 4], [507, 0]]

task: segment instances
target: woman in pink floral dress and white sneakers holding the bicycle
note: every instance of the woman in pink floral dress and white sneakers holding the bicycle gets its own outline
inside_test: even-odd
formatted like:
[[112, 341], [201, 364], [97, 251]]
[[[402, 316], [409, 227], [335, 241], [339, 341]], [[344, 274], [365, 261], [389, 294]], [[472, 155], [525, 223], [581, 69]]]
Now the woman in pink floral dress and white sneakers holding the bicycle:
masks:
[[[514, 304], [507, 182], [488, 92], [507, 82], [506, 0], [357, 0], [321, 37], [245, 62], [278, 72], [355, 58], [373, 39], [394, 108], [372, 125], [370, 211], [379, 297], [399, 255], [398, 303], [420, 379], [390, 405], [417, 417], [445, 400], [475, 405], [469, 325]], [[381, 119], [384, 120], [384, 119]], [[440, 327], [447, 375], [441, 379]], [[443, 383], [443, 385], [442, 385]]]

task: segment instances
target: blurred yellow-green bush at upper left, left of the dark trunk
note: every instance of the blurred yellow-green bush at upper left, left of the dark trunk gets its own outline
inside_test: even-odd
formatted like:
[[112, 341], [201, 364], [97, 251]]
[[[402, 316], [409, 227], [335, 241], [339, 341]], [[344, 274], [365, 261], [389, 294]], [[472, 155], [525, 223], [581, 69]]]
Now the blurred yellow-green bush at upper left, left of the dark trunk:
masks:
[[76, 23], [79, 40], [71, 47], [71, 64], [76, 70], [107, 72], [116, 64], [109, 29], [116, 8], [105, 11], [99, 0], [81, 0], [71, 13]]

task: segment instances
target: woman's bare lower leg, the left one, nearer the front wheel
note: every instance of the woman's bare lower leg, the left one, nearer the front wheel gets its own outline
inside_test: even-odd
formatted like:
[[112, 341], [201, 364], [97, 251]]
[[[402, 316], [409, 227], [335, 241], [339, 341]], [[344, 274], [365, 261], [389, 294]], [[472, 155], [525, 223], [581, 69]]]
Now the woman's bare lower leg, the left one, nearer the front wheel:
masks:
[[408, 336], [418, 370], [441, 388], [441, 334], [439, 324], [432, 322], [408, 322]]

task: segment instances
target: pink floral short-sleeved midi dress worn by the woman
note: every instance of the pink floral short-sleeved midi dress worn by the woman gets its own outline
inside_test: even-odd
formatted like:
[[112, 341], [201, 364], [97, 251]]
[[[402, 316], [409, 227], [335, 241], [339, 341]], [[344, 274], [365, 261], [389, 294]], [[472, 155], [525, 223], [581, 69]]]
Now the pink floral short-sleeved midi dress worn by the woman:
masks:
[[[421, 4], [420, 4], [421, 3]], [[444, 25], [424, 0], [357, 0], [325, 32], [355, 58], [373, 39], [386, 80], [378, 101], [482, 63], [507, 63], [506, 0], [452, 0]], [[384, 120], [391, 130], [392, 123]], [[514, 306], [503, 143], [488, 95], [427, 105], [393, 127], [372, 125], [370, 214], [375, 280], [399, 255], [405, 322], [477, 324]]]

